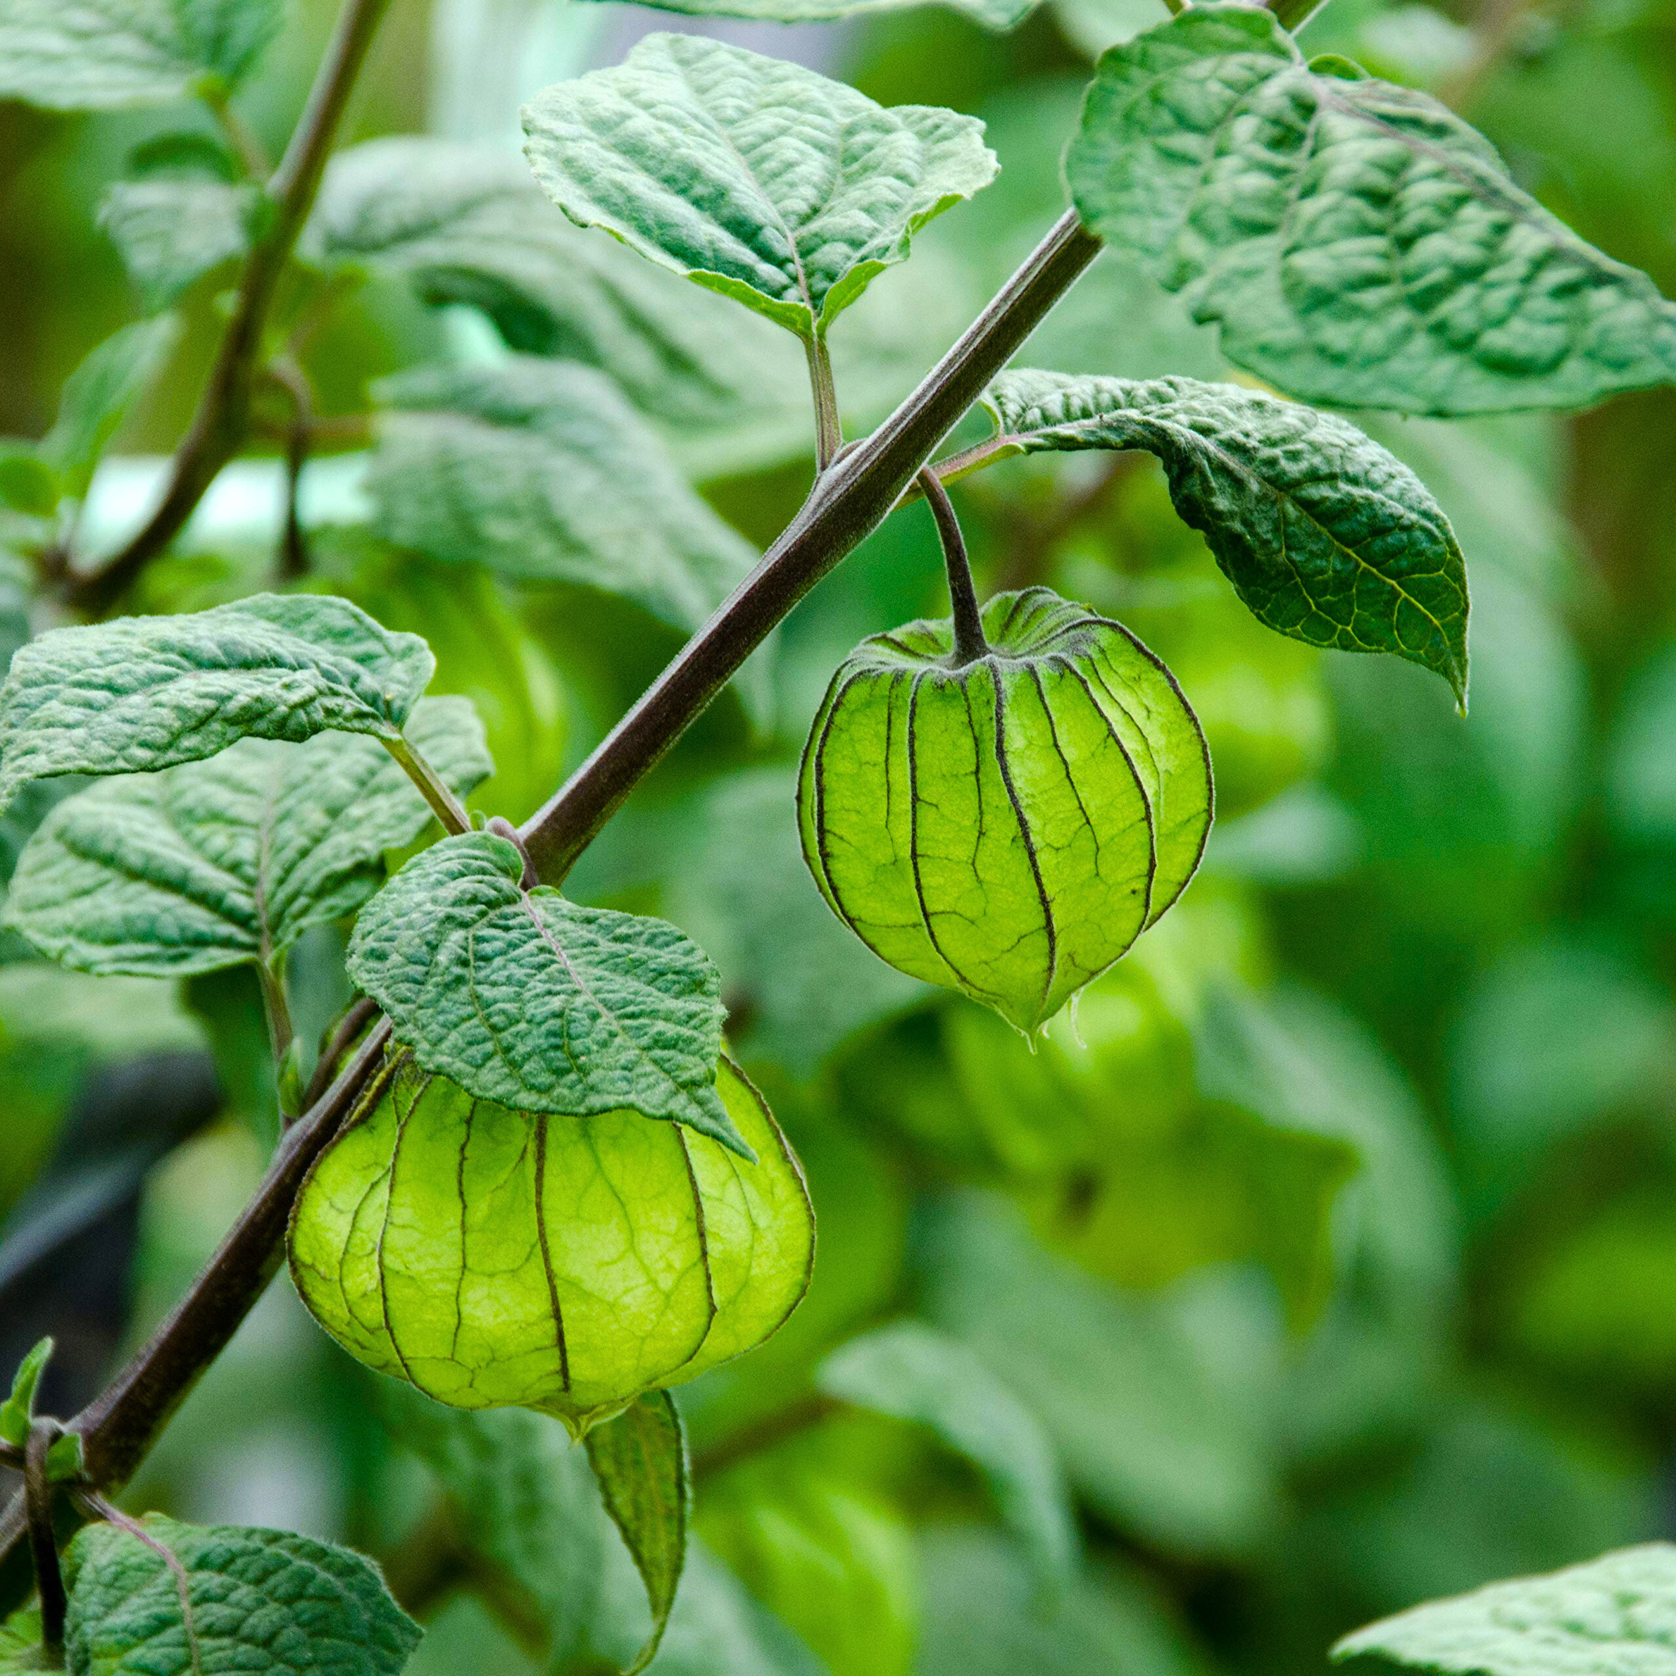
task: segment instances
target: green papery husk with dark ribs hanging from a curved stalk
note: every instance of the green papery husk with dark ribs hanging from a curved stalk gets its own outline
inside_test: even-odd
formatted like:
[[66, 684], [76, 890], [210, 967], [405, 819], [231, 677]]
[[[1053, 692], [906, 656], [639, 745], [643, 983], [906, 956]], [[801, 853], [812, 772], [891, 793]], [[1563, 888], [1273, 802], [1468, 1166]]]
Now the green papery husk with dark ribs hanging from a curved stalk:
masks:
[[985, 655], [947, 620], [863, 640], [803, 751], [803, 855], [882, 959], [1034, 1032], [1187, 888], [1210, 754], [1170, 670], [1048, 588], [1001, 593]]

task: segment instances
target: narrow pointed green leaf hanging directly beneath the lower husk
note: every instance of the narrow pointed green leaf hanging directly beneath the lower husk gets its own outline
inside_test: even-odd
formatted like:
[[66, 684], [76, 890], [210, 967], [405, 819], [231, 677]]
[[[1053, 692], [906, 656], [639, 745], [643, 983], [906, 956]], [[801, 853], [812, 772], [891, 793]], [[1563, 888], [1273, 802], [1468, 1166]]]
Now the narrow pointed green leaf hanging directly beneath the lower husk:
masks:
[[674, 1398], [667, 1391], [637, 1396], [615, 1420], [588, 1433], [587, 1448], [605, 1510], [634, 1555], [652, 1607], [652, 1634], [623, 1671], [639, 1676], [657, 1656], [687, 1564], [692, 1483]]

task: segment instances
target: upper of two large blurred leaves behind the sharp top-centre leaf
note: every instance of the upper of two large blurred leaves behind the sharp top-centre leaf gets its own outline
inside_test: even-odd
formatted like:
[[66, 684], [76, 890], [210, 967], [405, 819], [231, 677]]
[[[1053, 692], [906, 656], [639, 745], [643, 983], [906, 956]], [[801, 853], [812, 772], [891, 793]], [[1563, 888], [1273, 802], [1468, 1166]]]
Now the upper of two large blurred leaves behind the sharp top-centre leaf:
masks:
[[771, 394], [758, 357], [763, 340], [784, 340], [766, 320], [741, 320], [724, 298], [553, 215], [499, 147], [417, 136], [355, 146], [327, 169], [310, 240], [330, 265], [401, 275], [429, 303], [473, 303], [515, 350], [602, 367], [642, 412], [714, 424]]

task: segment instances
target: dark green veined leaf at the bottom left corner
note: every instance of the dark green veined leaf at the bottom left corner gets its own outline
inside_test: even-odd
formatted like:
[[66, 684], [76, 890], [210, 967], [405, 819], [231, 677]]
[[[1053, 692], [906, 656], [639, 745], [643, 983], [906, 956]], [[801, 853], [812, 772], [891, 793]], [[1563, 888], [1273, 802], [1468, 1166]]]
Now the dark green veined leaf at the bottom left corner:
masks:
[[64, 1555], [77, 1676], [397, 1676], [419, 1644], [377, 1569], [349, 1549], [161, 1513], [141, 1529], [149, 1542], [89, 1525]]

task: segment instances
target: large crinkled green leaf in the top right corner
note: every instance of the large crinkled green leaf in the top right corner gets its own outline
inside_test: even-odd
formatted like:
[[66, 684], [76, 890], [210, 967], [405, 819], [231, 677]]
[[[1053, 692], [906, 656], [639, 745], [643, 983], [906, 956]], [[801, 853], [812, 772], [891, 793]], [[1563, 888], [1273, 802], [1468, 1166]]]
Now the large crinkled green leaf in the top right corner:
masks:
[[1426, 94], [1312, 70], [1267, 10], [1192, 7], [1099, 60], [1078, 210], [1292, 396], [1582, 407], [1676, 379], [1676, 307], [1522, 193]]

